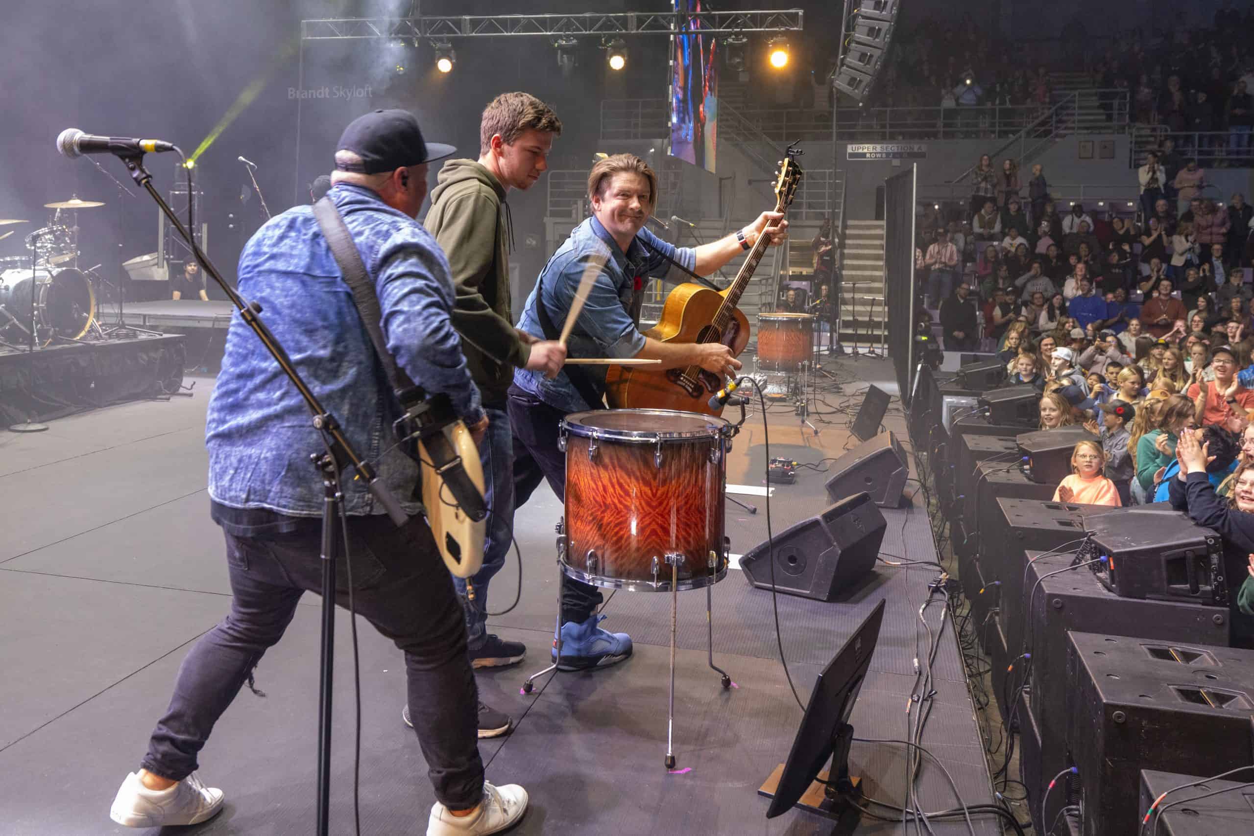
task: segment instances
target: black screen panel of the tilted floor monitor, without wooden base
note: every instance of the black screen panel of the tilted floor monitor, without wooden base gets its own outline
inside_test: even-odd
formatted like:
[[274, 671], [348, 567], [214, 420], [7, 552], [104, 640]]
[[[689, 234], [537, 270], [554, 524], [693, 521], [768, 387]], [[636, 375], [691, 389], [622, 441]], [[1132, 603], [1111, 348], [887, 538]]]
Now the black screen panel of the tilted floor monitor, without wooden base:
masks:
[[788, 812], [800, 801], [829, 760], [833, 761], [829, 775], [833, 782], [839, 781], [838, 775], [848, 777], [849, 743], [853, 739], [849, 716], [853, 714], [858, 692], [867, 678], [870, 657], [875, 653], [879, 625], [884, 619], [884, 603], [880, 600], [875, 605], [814, 683], [805, 716], [793, 741], [793, 751], [784, 763], [775, 797], [766, 811], [767, 818]]

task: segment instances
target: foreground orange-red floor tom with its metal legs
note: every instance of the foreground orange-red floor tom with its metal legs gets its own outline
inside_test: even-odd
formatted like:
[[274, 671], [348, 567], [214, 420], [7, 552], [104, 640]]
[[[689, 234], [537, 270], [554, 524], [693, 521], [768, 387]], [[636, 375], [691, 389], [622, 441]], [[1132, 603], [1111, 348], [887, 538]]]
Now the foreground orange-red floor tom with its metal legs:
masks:
[[[744, 407], [741, 407], [744, 412]], [[675, 652], [678, 593], [706, 590], [710, 668], [724, 688], [731, 677], [714, 663], [711, 588], [727, 575], [725, 535], [727, 452], [744, 424], [675, 410], [593, 410], [562, 421], [564, 516], [557, 525], [558, 602], [566, 578], [606, 589], [671, 594], [671, 688], [666, 768], [675, 768]], [[561, 615], [557, 654], [562, 656]], [[552, 664], [523, 683], [557, 668]]]

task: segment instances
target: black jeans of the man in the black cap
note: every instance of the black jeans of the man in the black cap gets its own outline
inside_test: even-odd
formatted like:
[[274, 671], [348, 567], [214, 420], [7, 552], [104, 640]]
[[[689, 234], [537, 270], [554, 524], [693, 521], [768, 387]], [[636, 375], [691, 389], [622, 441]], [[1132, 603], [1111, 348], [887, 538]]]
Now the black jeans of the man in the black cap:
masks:
[[[253, 667], [282, 638], [296, 602], [322, 587], [317, 524], [267, 539], [227, 534], [226, 541], [231, 612], [183, 659], [169, 709], [140, 763], [166, 778], [182, 780], [197, 768], [213, 723], [245, 682], [252, 687]], [[400, 529], [386, 516], [350, 516], [349, 541], [357, 614], [405, 653], [409, 716], [435, 797], [451, 810], [469, 810], [483, 795], [478, 691], [461, 604], [431, 530], [420, 516]], [[344, 555], [337, 565], [336, 600], [346, 607]]]

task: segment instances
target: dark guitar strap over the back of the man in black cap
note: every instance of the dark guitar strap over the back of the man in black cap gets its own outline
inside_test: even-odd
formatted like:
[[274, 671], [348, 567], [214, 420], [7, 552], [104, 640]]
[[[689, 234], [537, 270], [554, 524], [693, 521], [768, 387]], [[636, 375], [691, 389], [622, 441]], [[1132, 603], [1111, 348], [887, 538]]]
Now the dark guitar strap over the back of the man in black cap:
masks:
[[[352, 291], [352, 302], [357, 308], [357, 315], [361, 317], [361, 325], [366, 328], [366, 333], [370, 335], [370, 342], [374, 345], [375, 356], [379, 358], [379, 363], [384, 367], [384, 374], [387, 376], [387, 384], [391, 386], [396, 400], [400, 401], [401, 410], [410, 414], [414, 407], [428, 402], [426, 391], [421, 386], [418, 386], [404, 368], [396, 365], [396, 358], [387, 351], [387, 341], [384, 337], [382, 326], [380, 325], [382, 322], [382, 310], [379, 306], [379, 296], [375, 293], [374, 282], [366, 273], [361, 253], [357, 252], [357, 246], [352, 243], [352, 233], [349, 232], [349, 227], [345, 226], [340, 211], [331, 202], [330, 197], [324, 197], [314, 204], [314, 217], [317, 218], [319, 227], [322, 228], [322, 236], [331, 247], [335, 263], [340, 266], [344, 283]], [[436, 396], [436, 399], [440, 397], [444, 396]], [[426, 452], [431, 457], [430, 462], [423, 461], [423, 457], [418, 454], [415, 439], [409, 436], [408, 432], [404, 435], [406, 437], [399, 440], [410, 441], [401, 445], [405, 452], [416, 460], [420, 468], [434, 468], [435, 473], [444, 480], [444, 484], [449, 486], [454, 501], [472, 519], [482, 519], [480, 510], [483, 510], [483, 514], [487, 513], [483, 504], [483, 495], [479, 494], [479, 489], [470, 480], [469, 474], [466, 474], [465, 468], [461, 465], [461, 457], [456, 455], [444, 432], [431, 432], [423, 439]], [[414, 486], [414, 496], [415, 499], [421, 496], [419, 485]], [[430, 509], [428, 509], [428, 513], [430, 513]]]

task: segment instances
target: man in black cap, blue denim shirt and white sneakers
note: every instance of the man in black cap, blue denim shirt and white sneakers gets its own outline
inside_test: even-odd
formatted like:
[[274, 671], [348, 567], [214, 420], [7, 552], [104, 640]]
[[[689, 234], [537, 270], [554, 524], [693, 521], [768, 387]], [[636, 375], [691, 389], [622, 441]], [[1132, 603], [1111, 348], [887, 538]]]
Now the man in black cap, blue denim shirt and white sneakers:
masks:
[[[426, 196], [426, 163], [453, 148], [426, 144], [418, 119], [376, 110], [354, 120], [337, 145], [339, 208], [375, 285], [381, 328], [396, 363], [430, 394], [445, 394], [477, 437], [488, 419], [449, 317], [453, 283], [444, 254], [414, 219]], [[527, 807], [519, 786], [484, 781], [478, 701], [465, 620], [449, 573], [413, 491], [418, 466], [394, 442], [400, 415], [352, 293], [312, 207], [267, 222], [240, 257], [240, 291], [352, 446], [414, 516], [398, 529], [361, 480], [344, 474], [347, 548], [339, 603], [405, 653], [410, 714], [435, 787], [428, 833], [488, 833]], [[140, 770], [119, 788], [110, 817], [130, 827], [193, 825], [217, 815], [221, 790], [196, 775], [197, 755], [253, 668], [282, 637], [303, 592], [321, 589], [322, 479], [310, 462], [324, 445], [303, 400], [270, 352], [233, 317], [209, 401], [211, 514], [226, 536], [231, 612], [188, 653], [169, 709]]]

